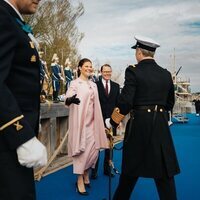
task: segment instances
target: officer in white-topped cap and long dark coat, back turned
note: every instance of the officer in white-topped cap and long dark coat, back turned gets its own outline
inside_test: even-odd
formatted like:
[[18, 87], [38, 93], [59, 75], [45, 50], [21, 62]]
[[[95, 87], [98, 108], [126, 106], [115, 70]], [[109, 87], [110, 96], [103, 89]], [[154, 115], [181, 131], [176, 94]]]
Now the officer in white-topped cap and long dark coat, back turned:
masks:
[[[131, 112], [123, 143], [122, 173], [114, 200], [128, 200], [139, 177], [153, 178], [161, 200], [176, 200], [174, 175], [180, 172], [168, 111], [174, 105], [170, 72], [154, 60], [154, 40], [135, 36], [136, 60], [125, 72], [125, 83], [112, 113], [116, 127]], [[109, 127], [109, 123], [106, 124]]]

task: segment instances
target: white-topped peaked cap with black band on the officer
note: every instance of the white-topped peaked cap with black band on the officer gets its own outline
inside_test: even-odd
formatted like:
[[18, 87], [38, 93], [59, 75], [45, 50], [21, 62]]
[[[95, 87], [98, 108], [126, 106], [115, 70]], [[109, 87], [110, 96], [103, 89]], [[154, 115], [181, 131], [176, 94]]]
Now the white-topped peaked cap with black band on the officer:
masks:
[[141, 48], [154, 52], [156, 48], [160, 47], [160, 44], [151, 38], [147, 38], [144, 36], [135, 36], [134, 38], [137, 42], [134, 46], [131, 47], [132, 49]]

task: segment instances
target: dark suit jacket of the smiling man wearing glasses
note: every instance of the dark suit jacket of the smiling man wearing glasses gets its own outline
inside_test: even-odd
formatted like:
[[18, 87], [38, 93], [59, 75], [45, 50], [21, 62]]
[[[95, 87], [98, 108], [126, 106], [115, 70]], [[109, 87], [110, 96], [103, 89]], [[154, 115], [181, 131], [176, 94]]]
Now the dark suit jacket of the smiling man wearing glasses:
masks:
[[110, 93], [108, 96], [106, 95], [105, 88], [101, 79], [97, 81], [96, 84], [98, 88], [103, 119], [105, 121], [106, 118], [111, 117], [112, 111], [116, 106], [116, 102], [119, 96], [119, 84], [114, 81], [110, 81]]

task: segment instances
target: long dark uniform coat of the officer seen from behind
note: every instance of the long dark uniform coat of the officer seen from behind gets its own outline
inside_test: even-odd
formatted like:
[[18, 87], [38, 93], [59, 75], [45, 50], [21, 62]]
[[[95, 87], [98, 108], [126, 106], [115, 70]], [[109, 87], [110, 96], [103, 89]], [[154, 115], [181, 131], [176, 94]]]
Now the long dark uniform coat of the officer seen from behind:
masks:
[[[163, 106], [165, 111], [154, 114], [147, 109], [134, 109], [149, 105]], [[167, 120], [167, 111], [173, 105], [171, 74], [153, 59], [142, 60], [126, 69], [125, 85], [117, 107], [124, 115], [134, 111], [125, 132], [122, 173], [152, 178], [166, 176], [166, 173], [168, 176], [179, 173]]]

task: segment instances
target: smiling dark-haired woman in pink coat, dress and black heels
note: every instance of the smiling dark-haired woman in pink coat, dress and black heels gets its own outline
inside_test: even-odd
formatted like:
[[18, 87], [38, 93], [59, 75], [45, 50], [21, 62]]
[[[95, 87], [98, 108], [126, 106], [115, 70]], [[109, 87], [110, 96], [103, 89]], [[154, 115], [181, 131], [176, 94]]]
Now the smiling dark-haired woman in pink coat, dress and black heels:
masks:
[[92, 72], [92, 62], [80, 60], [79, 77], [71, 81], [65, 102], [69, 106], [68, 155], [73, 160], [73, 173], [78, 175], [76, 189], [81, 195], [88, 195], [85, 186], [90, 186], [89, 169], [95, 167], [99, 149], [108, 148], [97, 86], [89, 80]]

